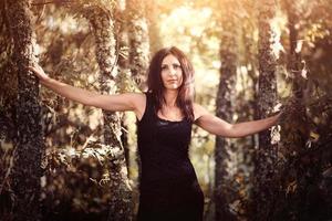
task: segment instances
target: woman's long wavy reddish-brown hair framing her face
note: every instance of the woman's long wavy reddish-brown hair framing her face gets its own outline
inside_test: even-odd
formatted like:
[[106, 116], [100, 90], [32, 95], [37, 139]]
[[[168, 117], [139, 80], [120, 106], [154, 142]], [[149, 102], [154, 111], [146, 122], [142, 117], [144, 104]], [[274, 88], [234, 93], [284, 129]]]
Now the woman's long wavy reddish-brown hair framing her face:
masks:
[[157, 113], [166, 103], [162, 80], [162, 62], [169, 54], [178, 59], [183, 71], [183, 83], [178, 88], [176, 105], [180, 108], [185, 119], [194, 122], [194, 69], [185, 53], [176, 46], [164, 48], [153, 56], [147, 73], [147, 92], [152, 93]]

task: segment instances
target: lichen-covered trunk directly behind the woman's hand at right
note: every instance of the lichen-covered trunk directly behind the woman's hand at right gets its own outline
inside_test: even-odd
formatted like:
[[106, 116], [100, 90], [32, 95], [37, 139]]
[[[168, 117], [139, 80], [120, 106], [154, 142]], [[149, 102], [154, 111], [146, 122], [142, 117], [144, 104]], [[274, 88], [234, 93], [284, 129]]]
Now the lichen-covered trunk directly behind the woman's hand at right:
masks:
[[[277, 104], [277, 56], [272, 51], [276, 33], [271, 20], [276, 15], [276, 1], [263, 0], [259, 7], [259, 91], [258, 114], [264, 118]], [[278, 188], [276, 183], [277, 144], [272, 144], [277, 134], [271, 129], [259, 133], [259, 149], [255, 161], [255, 198], [253, 219], [269, 220], [273, 212], [274, 197]]]

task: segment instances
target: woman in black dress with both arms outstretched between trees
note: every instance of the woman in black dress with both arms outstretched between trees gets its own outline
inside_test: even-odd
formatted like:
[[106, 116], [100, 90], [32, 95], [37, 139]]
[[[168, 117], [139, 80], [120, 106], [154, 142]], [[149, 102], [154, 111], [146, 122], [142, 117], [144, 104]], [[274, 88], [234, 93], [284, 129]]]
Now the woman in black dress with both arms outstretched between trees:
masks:
[[194, 69], [175, 46], [158, 51], [148, 69], [146, 93], [102, 95], [50, 78], [29, 67], [58, 94], [106, 110], [135, 113], [142, 161], [138, 220], [203, 220], [204, 196], [188, 158], [191, 125], [224, 137], [243, 137], [274, 125], [273, 117], [229, 124], [194, 103]]

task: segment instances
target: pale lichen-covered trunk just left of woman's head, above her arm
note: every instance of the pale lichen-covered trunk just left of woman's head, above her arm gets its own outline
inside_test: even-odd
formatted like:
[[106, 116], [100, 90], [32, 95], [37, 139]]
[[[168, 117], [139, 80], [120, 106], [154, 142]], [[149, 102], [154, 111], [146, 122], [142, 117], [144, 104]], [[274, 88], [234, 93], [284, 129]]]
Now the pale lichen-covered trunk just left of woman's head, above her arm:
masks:
[[149, 42], [145, 2], [127, 0], [129, 34], [129, 69], [132, 77], [139, 90], [144, 90], [146, 70], [149, 59]]

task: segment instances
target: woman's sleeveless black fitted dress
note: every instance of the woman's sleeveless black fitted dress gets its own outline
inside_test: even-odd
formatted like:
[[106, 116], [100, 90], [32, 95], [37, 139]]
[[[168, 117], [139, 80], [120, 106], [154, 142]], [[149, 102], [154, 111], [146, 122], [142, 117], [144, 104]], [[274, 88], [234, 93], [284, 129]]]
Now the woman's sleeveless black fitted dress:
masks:
[[204, 196], [188, 157], [191, 123], [162, 119], [151, 93], [137, 125], [142, 162], [138, 221], [201, 221]]

